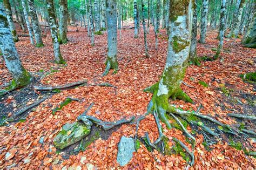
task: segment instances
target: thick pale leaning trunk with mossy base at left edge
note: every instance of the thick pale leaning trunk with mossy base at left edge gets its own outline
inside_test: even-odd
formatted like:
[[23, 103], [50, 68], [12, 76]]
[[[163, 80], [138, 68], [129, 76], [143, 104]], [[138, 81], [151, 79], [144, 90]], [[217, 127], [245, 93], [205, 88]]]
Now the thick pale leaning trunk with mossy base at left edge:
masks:
[[14, 79], [12, 81], [12, 88], [23, 87], [30, 83], [31, 76], [22, 66], [21, 60], [19, 60], [19, 55], [6, 17], [3, 9], [0, 9], [0, 46], [6, 67]]

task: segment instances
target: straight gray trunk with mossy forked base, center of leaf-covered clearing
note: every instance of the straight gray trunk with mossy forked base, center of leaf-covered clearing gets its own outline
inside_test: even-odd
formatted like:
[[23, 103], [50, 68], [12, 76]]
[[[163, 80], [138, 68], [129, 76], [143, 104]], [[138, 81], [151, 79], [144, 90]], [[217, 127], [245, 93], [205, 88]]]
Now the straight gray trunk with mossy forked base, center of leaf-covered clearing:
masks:
[[107, 59], [106, 70], [103, 76], [109, 73], [109, 69], [118, 70], [117, 63], [117, 0], [106, 0], [107, 18]]

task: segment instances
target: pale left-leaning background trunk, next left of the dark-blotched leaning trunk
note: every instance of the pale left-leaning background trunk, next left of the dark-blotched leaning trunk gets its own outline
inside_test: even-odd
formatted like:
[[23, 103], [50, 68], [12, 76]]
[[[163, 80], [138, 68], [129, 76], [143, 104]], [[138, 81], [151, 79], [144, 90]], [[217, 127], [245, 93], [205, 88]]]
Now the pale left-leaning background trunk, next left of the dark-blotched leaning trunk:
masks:
[[43, 44], [43, 40], [41, 37], [41, 28], [40, 28], [37, 14], [36, 14], [34, 0], [28, 0], [28, 6], [29, 6], [29, 14], [30, 14], [30, 18], [31, 18], [32, 26], [33, 26], [33, 32], [35, 35], [36, 46], [42, 47], [42, 46], [44, 46], [44, 44]]

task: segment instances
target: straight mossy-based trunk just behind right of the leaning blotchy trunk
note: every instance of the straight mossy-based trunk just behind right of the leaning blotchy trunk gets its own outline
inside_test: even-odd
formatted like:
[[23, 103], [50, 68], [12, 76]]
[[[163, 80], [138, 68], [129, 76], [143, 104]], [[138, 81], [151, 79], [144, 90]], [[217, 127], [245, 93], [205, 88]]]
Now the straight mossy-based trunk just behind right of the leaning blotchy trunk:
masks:
[[68, 42], [66, 33], [68, 32], [68, 1], [59, 0], [59, 43], [65, 44]]

